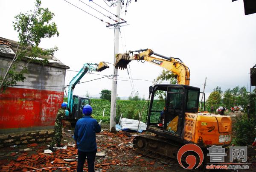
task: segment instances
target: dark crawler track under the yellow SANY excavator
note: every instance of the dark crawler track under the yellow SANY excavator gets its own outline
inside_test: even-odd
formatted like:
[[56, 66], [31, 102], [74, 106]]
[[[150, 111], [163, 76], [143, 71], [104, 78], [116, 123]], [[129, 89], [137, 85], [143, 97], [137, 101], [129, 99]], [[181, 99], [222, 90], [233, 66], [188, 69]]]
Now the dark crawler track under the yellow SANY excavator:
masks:
[[[133, 147], [136, 152], [150, 158], [158, 159], [164, 164], [177, 165], [177, 152], [183, 144], [170, 142], [166, 138], [160, 138], [152, 135], [136, 136], [133, 141]], [[184, 154], [186, 157], [186, 153]], [[185, 161], [185, 159], [182, 159]], [[207, 160], [206, 160], [207, 161]], [[204, 161], [203, 164], [206, 164]], [[199, 161], [198, 161], [199, 162]], [[205, 171], [205, 165], [199, 169], [193, 169], [194, 172]], [[182, 167], [181, 167], [182, 168]]]

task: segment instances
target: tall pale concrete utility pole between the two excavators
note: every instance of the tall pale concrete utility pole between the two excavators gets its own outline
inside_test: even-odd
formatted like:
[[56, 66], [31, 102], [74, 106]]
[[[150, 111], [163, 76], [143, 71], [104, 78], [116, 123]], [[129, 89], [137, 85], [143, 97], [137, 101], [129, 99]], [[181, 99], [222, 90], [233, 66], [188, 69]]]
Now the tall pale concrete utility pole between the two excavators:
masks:
[[[121, 0], [116, 2], [116, 20], [120, 22], [120, 12], [121, 12]], [[116, 64], [116, 54], [119, 51], [119, 33], [120, 26], [115, 25], [115, 55], [114, 64]], [[109, 131], [111, 133], [116, 133], [116, 90], [117, 90], [117, 68], [113, 68], [113, 80], [112, 80], [112, 90], [111, 90], [111, 110], [110, 110], [110, 125]]]

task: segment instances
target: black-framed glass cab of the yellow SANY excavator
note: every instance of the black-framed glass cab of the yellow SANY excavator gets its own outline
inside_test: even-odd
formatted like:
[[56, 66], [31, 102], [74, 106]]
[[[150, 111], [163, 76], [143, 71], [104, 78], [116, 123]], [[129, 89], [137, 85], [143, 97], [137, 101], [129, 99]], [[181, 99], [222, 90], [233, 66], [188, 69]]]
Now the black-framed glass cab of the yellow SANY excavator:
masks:
[[[183, 135], [185, 112], [197, 113], [200, 88], [188, 85], [155, 85], [148, 107], [147, 130], [177, 141]], [[163, 110], [165, 109], [165, 110]], [[160, 112], [164, 111], [163, 119]], [[163, 121], [163, 127], [158, 127]]]

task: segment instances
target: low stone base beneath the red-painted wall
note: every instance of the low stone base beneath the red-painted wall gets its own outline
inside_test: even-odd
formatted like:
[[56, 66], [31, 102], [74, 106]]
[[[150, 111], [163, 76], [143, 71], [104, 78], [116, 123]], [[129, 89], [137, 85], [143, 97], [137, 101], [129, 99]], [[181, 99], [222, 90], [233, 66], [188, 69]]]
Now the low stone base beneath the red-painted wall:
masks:
[[0, 147], [52, 141], [54, 130], [0, 134]]

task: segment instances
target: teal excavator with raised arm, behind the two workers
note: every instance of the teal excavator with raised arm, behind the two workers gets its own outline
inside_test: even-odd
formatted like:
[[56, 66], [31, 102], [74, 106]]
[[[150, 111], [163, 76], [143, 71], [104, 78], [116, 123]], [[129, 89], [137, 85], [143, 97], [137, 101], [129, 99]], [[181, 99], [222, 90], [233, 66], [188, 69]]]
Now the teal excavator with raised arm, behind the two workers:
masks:
[[74, 88], [78, 84], [81, 78], [86, 74], [92, 71], [100, 72], [109, 68], [105, 62], [100, 62], [99, 64], [95, 63], [85, 63], [81, 70], [73, 77], [68, 86], [68, 95], [67, 95], [67, 109], [65, 124], [70, 126], [75, 124], [76, 121], [83, 116], [82, 110], [85, 104], [90, 104], [90, 99], [86, 96], [77, 96], [73, 95]]

